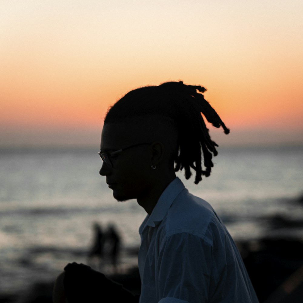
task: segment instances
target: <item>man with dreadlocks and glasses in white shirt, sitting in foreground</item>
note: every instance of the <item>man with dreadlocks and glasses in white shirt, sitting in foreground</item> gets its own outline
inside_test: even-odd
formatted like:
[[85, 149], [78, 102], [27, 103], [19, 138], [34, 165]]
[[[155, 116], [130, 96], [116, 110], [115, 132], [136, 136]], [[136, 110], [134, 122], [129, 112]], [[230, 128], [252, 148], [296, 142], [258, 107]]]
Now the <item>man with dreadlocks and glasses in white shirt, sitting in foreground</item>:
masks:
[[229, 133], [204, 92], [201, 86], [183, 82], [138, 88], [116, 102], [105, 117], [100, 175], [106, 177], [114, 198], [135, 198], [147, 212], [139, 229], [140, 297], [75, 263], [59, 276], [55, 295], [70, 303], [80, 298], [101, 302], [100, 296], [113, 302], [258, 302], [221, 219], [175, 175], [184, 169], [189, 179], [193, 170], [198, 184], [211, 174], [218, 145], [201, 113]]

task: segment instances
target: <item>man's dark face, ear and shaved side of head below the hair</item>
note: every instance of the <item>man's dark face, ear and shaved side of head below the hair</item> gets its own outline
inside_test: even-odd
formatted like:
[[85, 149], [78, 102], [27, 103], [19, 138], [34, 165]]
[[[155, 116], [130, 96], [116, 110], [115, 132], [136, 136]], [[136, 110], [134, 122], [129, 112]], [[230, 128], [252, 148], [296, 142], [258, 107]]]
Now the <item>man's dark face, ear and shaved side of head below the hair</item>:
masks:
[[118, 201], [144, 199], [165, 178], [175, 176], [177, 133], [168, 121], [150, 128], [155, 119], [104, 124], [100, 149], [105, 155], [101, 154], [104, 162], [100, 174], [106, 176]]

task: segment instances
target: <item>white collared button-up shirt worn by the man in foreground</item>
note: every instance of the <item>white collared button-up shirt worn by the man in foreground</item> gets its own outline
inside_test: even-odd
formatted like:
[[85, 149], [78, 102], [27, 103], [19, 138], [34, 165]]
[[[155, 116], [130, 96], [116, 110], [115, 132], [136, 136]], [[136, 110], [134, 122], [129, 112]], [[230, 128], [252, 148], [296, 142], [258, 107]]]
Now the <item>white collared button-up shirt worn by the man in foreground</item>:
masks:
[[257, 303], [238, 249], [221, 219], [179, 178], [139, 228], [140, 303]]

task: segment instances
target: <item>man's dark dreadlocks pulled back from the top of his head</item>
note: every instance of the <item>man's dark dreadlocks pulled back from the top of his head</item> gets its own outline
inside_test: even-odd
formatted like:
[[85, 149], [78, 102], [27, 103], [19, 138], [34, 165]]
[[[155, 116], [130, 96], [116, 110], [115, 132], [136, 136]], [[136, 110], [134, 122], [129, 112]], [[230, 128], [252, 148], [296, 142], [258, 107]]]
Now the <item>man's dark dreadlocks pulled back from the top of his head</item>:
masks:
[[[211, 140], [203, 116], [216, 128], [222, 127], [225, 134], [229, 133], [215, 109], [204, 99], [205, 91], [202, 86], [185, 85], [182, 81], [137, 88], [128, 92], [108, 110], [104, 123], [152, 116], [172, 120], [178, 136], [173, 159], [175, 171], [184, 168], [185, 178], [189, 179], [192, 168], [196, 172], [195, 184], [198, 184], [202, 175], [210, 175], [214, 166], [212, 156], [218, 154], [218, 145]], [[155, 119], [154, 123], [157, 121]]]

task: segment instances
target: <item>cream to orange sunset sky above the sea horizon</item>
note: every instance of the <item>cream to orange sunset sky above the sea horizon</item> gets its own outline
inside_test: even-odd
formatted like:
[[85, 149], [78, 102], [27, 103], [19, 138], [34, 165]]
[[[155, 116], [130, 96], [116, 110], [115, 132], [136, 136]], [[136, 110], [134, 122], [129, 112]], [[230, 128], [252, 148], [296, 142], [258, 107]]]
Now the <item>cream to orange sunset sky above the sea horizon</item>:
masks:
[[108, 107], [183, 80], [231, 134], [303, 143], [303, 3], [0, 1], [0, 145], [96, 145]]

